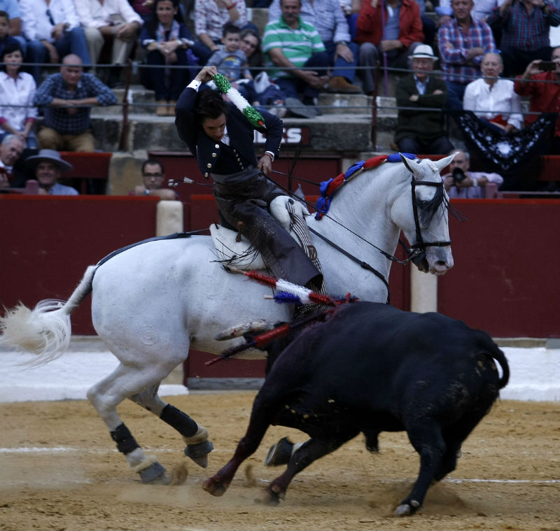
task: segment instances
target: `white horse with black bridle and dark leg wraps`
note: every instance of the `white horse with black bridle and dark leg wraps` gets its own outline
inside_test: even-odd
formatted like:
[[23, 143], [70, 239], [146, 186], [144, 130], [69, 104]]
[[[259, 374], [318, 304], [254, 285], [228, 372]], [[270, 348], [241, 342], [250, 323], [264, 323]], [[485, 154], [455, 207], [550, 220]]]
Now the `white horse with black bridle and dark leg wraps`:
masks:
[[[453, 267], [440, 177], [452, 158], [412, 161], [401, 155], [402, 162], [357, 172], [339, 188], [322, 220], [307, 219], [329, 292], [385, 302], [388, 256], [395, 253], [400, 230], [413, 248], [425, 248], [421, 269], [444, 274]], [[94, 328], [120, 364], [87, 398], [119, 451], [144, 482], [167, 481], [162, 465], [145, 455], [118, 416], [118, 404], [130, 398], [179, 431], [186, 455], [206, 467], [212, 449], [207, 430], [158, 396], [160, 382], [186, 360], [189, 348], [220, 353], [244, 339], [224, 344], [216, 341], [218, 332], [258, 319], [286, 321], [290, 308], [263, 300], [269, 288], [225, 271], [209, 236], [155, 239], [88, 267], [64, 304], [49, 300], [33, 311], [20, 305], [8, 312], [0, 320], [3, 343], [36, 353], [40, 363], [58, 357], [69, 344], [69, 316], [90, 292]]]

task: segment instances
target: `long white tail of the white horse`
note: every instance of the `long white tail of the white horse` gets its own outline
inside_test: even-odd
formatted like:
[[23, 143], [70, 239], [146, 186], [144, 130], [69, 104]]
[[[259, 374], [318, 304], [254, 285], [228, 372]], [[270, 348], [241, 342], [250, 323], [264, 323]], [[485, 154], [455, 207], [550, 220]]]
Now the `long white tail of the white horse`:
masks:
[[66, 302], [46, 299], [38, 302], [33, 310], [21, 303], [9, 310], [0, 318], [0, 343], [35, 354], [37, 357], [29, 362], [32, 365], [42, 365], [62, 356], [70, 343], [70, 314], [92, 291], [97, 267], [87, 267]]

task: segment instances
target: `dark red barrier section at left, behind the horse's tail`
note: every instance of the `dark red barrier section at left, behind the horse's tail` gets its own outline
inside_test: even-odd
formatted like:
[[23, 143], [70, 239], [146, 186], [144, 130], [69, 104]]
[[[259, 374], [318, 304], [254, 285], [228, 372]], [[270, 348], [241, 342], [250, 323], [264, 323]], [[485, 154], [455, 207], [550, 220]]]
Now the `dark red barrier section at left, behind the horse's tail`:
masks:
[[[85, 268], [155, 236], [155, 197], [0, 194], [0, 307], [68, 299]], [[74, 334], [94, 334], [90, 298], [72, 314]]]

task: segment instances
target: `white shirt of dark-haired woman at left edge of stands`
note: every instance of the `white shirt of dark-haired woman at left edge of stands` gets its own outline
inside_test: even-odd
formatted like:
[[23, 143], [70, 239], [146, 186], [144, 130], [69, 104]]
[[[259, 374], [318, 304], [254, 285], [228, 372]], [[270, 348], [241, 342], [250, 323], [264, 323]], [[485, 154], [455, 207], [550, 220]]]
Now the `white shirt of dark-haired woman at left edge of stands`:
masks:
[[27, 118], [37, 118], [37, 108], [33, 99], [37, 87], [35, 80], [27, 72], [18, 73], [13, 79], [4, 71], [0, 72], [0, 118], [18, 131], [25, 129]]

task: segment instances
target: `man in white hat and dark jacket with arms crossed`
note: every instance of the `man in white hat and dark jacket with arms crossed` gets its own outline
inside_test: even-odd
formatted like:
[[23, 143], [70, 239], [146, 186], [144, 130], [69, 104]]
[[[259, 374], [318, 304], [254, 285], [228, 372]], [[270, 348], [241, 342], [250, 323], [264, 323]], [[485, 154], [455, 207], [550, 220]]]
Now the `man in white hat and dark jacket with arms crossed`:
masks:
[[447, 100], [447, 85], [432, 74], [436, 61], [432, 48], [420, 44], [412, 52], [412, 73], [398, 80], [395, 143], [403, 153], [446, 155], [453, 149], [444, 113], [428, 110], [442, 109]]

